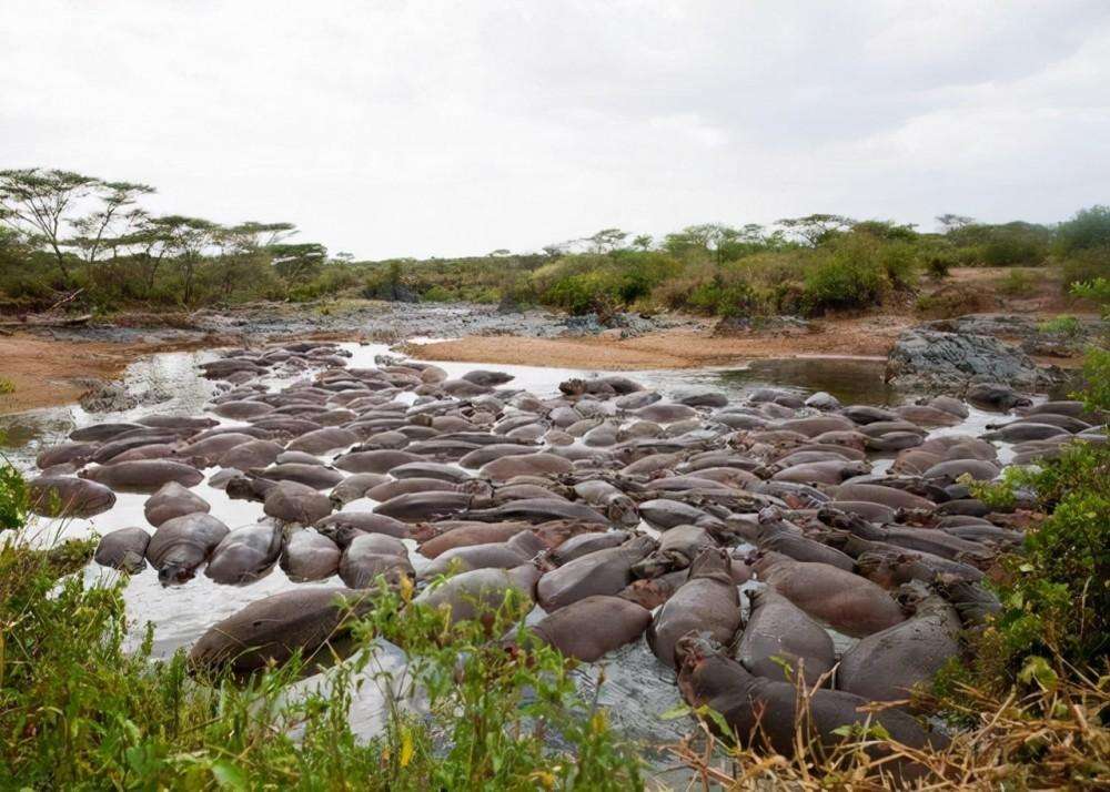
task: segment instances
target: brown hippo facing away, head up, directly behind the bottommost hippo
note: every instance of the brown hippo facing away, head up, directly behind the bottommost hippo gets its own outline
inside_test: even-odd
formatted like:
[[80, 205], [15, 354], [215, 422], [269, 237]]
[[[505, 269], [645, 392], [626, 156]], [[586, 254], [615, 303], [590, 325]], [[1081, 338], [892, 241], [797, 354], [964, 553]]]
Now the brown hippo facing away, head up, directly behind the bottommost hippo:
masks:
[[722, 643], [731, 642], [740, 627], [740, 598], [730, 566], [726, 550], [703, 550], [690, 565], [686, 582], [652, 619], [647, 646], [667, 666], [677, 667], [675, 644], [692, 630], [706, 631]]

